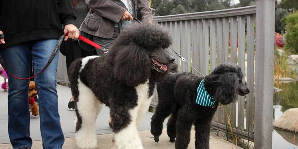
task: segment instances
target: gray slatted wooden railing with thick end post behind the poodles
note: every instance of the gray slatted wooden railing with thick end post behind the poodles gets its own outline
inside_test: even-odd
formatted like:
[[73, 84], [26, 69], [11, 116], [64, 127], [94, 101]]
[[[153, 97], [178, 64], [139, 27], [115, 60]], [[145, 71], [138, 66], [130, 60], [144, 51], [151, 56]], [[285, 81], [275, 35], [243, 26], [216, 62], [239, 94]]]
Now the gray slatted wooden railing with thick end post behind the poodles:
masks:
[[[246, 97], [239, 96], [235, 103], [220, 106], [212, 127], [221, 131], [228, 128], [226, 132], [231, 132], [232, 126], [233, 134], [254, 141], [255, 149], [271, 149], [274, 0], [257, 0], [256, 6], [159, 16], [154, 20], [171, 33], [173, 49], [203, 75], [222, 63], [242, 68], [243, 82], [251, 92]], [[200, 76], [169, 51], [180, 71]], [[61, 54], [57, 81], [67, 82], [65, 57]], [[151, 106], [157, 103], [156, 93]]]

